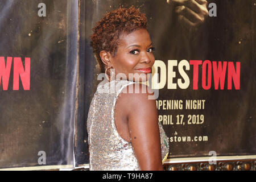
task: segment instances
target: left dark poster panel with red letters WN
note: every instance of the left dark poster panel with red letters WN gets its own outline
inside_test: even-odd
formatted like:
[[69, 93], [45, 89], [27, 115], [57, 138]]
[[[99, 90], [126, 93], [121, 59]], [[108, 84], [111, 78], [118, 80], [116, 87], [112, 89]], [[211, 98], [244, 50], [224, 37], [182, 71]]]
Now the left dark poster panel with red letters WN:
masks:
[[0, 168], [73, 167], [77, 22], [76, 0], [0, 1]]

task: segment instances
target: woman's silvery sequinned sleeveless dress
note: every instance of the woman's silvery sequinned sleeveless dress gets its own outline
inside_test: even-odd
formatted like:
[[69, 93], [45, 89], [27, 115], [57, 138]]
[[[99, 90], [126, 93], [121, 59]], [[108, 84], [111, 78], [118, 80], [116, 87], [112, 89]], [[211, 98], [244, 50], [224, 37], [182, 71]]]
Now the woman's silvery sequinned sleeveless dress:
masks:
[[[128, 80], [100, 83], [90, 104], [87, 118], [89, 169], [100, 171], [141, 170], [131, 142], [120, 137], [114, 121], [115, 102]], [[162, 162], [168, 156], [169, 145], [159, 124]]]

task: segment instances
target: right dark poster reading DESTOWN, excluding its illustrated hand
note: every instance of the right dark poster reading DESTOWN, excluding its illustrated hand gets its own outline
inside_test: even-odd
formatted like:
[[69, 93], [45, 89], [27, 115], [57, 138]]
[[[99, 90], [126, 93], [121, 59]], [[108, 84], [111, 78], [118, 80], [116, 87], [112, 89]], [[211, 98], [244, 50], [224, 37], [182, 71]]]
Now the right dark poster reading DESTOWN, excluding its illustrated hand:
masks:
[[170, 142], [168, 158], [255, 158], [256, 2], [208, 1], [209, 16], [200, 26], [189, 28], [172, 1], [86, 1], [88, 100], [100, 73], [89, 47], [91, 29], [105, 13], [131, 5], [146, 14], [156, 48], [153, 74], [160, 78], [155, 82], [156, 104]]

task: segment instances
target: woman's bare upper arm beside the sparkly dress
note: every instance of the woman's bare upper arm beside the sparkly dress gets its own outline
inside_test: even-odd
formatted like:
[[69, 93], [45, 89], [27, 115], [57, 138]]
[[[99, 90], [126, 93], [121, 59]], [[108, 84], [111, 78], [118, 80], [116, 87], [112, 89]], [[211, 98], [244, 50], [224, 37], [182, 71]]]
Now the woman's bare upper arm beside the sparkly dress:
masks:
[[[139, 84], [140, 90], [143, 86]], [[158, 111], [155, 100], [148, 100], [150, 93], [125, 94], [125, 100], [131, 143], [139, 166], [142, 170], [155, 171], [163, 170], [163, 165]]]

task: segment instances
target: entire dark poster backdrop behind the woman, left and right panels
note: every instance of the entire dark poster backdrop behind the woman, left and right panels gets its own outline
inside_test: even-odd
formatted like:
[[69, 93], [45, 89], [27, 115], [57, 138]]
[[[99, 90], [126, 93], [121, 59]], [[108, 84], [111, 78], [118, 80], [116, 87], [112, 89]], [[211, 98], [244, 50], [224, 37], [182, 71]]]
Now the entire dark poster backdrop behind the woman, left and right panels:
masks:
[[101, 72], [90, 34], [105, 13], [132, 5], [156, 48], [167, 163], [255, 159], [256, 1], [196, 2], [1, 1], [0, 169], [88, 166], [86, 119]]

